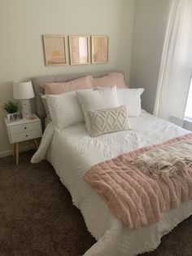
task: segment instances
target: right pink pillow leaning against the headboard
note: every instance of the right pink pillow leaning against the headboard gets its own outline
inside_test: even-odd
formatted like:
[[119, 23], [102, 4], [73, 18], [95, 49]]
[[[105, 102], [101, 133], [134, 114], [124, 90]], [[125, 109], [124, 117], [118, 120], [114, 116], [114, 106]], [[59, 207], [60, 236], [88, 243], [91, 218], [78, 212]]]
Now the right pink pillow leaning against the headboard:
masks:
[[117, 86], [119, 88], [127, 88], [124, 84], [124, 75], [123, 73], [110, 73], [104, 77], [93, 78], [93, 86], [109, 87]]

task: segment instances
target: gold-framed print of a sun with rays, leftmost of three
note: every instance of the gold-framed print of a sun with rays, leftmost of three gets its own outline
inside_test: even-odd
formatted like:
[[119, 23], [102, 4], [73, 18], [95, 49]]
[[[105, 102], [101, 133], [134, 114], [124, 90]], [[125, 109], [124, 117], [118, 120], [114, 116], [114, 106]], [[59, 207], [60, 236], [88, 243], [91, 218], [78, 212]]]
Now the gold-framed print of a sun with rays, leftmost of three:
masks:
[[46, 66], [66, 65], [66, 37], [64, 35], [43, 35]]

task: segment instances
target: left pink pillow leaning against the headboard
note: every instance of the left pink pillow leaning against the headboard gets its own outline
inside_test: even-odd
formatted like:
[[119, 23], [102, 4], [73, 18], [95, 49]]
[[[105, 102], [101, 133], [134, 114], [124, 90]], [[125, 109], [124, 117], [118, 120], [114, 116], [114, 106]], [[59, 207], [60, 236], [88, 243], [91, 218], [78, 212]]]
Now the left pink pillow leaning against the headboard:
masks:
[[49, 82], [41, 86], [46, 95], [60, 95], [72, 90], [93, 89], [93, 77], [81, 77], [68, 82]]

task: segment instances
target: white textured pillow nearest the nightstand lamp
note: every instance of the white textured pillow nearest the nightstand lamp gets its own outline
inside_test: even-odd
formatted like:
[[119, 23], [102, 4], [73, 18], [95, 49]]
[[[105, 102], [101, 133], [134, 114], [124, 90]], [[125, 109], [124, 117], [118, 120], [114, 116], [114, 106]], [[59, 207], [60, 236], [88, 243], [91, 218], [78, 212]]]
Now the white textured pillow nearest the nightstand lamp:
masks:
[[65, 127], [84, 121], [76, 91], [69, 91], [62, 95], [46, 95], [45, 97], [56, 130], [63, 130]]

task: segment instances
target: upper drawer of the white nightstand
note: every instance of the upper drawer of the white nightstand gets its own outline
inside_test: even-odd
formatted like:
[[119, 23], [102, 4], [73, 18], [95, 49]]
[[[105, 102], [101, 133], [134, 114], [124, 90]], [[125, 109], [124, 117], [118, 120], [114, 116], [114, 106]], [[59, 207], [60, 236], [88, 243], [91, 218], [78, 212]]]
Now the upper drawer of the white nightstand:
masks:
[[15, 125], [9, 127], [11, 134], [17, 134], [28, 130], [41, 130], [41, 122], [34, 121], [22, 125]]

